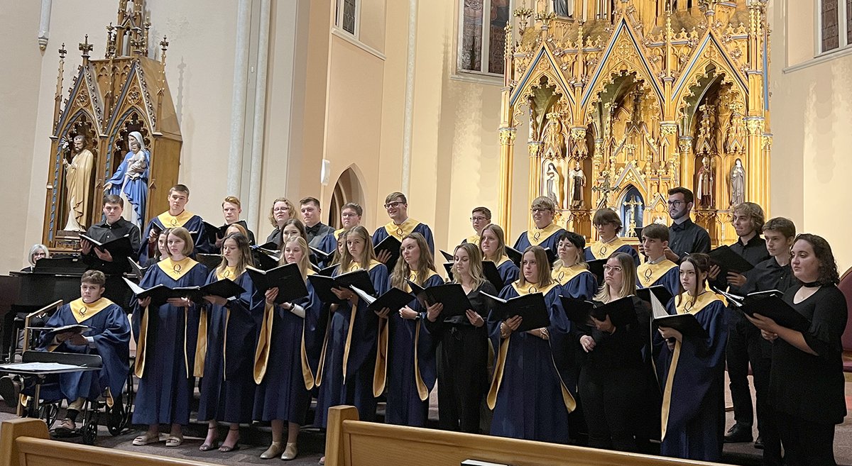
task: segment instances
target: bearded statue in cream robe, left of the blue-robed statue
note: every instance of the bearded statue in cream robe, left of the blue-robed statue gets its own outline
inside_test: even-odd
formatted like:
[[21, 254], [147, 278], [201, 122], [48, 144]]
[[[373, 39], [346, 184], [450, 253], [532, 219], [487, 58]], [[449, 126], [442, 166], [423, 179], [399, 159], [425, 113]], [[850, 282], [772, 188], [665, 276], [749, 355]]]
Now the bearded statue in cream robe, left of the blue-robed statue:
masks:
[[[89, 216], [92, 196], [92, 169], [95, 167], [95, 155], [86, 149], [86, 138], [82, 134], [74, 136], [71, 162], [62, 159], [65, 167], [65, 187], [68, 194], [68, 221], [66, 231], [85, 231], [86, 218]], [[67, 143], [66, 143], [67, 144]]]

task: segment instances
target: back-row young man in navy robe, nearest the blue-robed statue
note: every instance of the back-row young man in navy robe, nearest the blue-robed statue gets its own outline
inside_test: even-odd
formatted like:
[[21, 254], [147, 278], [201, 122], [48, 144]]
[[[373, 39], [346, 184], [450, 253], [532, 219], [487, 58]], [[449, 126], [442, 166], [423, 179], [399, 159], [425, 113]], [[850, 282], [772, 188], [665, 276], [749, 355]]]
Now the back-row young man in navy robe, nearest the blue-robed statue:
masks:
[[151, 219], [142, 234], [142, 245], [139, 249], [139, 263], [145, 264], [156, 247], [157, 231], [166, 228], [182, 226], [192, 232], [194, 253], [213, 253], [215, 247], [207, 238], [204, 231], [204, 220], [189, 212], [185, 207], [189, 202], [189, 188], [185, 185], [174, 185], [169, 190], [169, 210]]

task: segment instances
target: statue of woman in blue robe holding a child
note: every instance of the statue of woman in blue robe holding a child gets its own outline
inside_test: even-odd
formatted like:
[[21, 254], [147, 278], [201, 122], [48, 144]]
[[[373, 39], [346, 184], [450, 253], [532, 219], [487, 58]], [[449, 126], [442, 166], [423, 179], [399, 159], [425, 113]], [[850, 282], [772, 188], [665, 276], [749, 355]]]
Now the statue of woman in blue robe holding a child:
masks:
[[[112, 178], [107, 179], [104, 192], [120, 196], [124, 200], [125, 220], [142, 229], [145, 221], [145, 206], [148, 199], [148, 173], [151, 167], [151, 153], [145, 149], [145, 141], [138, 131], [127, 138], [130, 151], [118, 166]], [[132, 207], [132, 208], [130, 208]]]

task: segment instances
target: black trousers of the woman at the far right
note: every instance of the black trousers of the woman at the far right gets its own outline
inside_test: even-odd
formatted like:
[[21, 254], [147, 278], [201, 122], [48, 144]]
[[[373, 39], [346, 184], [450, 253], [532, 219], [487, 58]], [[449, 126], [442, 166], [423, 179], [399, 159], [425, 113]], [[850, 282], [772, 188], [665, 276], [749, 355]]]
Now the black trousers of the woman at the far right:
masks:
[[834, 424], [774, 412], [786, 466], [834, 466]]

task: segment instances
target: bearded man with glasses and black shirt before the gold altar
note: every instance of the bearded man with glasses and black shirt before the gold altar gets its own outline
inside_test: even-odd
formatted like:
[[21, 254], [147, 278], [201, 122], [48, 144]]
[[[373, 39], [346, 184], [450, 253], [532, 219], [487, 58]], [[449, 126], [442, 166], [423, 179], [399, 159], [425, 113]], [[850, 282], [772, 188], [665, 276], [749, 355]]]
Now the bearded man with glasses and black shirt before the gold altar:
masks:
[[669, 190], [669, 247], [665, 248], [665, 259], [675, 264], [683, 256], [694, 253], [710, 253], [710, 233], [689, 218], [695, 196], [691, 190], [678, 186]]

